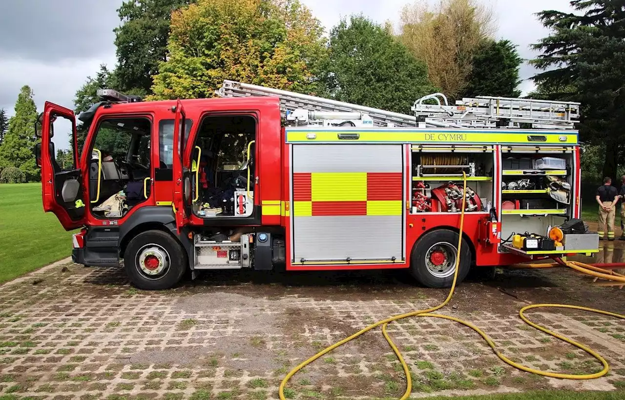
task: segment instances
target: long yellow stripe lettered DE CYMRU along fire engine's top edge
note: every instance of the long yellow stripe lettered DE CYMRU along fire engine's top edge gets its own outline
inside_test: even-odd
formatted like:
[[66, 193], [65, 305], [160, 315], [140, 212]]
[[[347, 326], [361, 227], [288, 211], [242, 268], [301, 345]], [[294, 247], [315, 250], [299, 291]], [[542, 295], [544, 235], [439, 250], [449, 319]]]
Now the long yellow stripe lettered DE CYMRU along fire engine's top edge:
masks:
[[[397, 129], [399, 131], [399, 129]], [[545, 140], [540, 144], [577, 144], [576, 133], [544, 133], [539, 131], [527, 132], [507, 132], [507, 133], [485, 133], [485, 132], [468, 132], [464, 130], [450, 131], [430, 131], [430, 130], [414, 130], [414, 131], [355, 131], [349, 130], [350, 134], [359, 135], [358, 139], [339, 139], [337, 133], [339, 131], [286, 131], [287, 143], [319, 143], [319, 142], [337, 142], [337, 143], [359, 143], [359, 142], [396, 142], [396, 143], [445, 143], [445, 144], [538, 144], [536, 141], [529, 141], [528, 136], [544, 136]], [[307, 138], [307, 134], [314, 133], [315, 138]], [[560, 140], [560, 139], [564, 140]]]

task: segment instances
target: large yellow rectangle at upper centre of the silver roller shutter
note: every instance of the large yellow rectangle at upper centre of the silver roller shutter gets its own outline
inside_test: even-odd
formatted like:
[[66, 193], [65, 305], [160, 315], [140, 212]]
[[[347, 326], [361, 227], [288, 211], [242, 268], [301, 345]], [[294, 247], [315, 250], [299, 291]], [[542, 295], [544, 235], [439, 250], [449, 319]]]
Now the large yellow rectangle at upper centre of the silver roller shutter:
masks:
[[367, 173], [312, 173], [312, 201], [366, 201]]

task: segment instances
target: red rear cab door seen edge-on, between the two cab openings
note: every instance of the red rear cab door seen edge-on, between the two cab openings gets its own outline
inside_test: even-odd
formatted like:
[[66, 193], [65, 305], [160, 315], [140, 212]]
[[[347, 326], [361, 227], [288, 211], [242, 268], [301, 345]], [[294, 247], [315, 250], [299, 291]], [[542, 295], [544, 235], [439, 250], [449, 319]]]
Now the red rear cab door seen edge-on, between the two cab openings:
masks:
[[176, 226], [180, 233], [183, 226], [189, 222], [191, 214], [191, 174], [189, 169], [184, 167], [184, 122], [185, 115], [183, 103], [180, 100], [176, 103], [176, 118], [174, 119], [174, 212], [176, 213]]

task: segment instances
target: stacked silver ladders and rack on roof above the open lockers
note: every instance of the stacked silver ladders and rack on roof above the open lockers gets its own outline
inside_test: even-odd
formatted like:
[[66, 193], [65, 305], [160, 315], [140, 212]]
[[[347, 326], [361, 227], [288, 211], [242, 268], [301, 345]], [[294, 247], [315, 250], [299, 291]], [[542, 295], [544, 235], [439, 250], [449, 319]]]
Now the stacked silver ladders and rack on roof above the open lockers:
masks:
[[[425, 104], [435, 101], [436, 104]], [[414, 102], [412, 111], [421, 121], [439, 121], [469, 128], [575, 129], [580, 103], [521, 98], [477, 96], [450, 105], [441, 93], [429, 94]]]

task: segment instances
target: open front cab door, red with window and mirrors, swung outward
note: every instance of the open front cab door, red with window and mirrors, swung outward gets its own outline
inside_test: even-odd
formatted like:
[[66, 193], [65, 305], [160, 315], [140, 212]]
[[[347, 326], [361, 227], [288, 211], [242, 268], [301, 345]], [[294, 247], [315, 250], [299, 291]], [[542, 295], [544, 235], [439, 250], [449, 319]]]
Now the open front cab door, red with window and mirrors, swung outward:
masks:
[[[53, 142], [55, 122], [57, 126], [66, 123], [68, 128], [71, 124], [73, 149], [62, 161], [57, 159], [57, 149]], [[35, 156], [37, 166], [41, 168], [43, 209], [45, 212], [54, 212], [66, 231], [81, 227], [86, 222], [86, 212], [74, 112], [46, 102], [44, 112], [37, 121], [36, 132], [41, 137], [41, 143], [35, 147]]]

